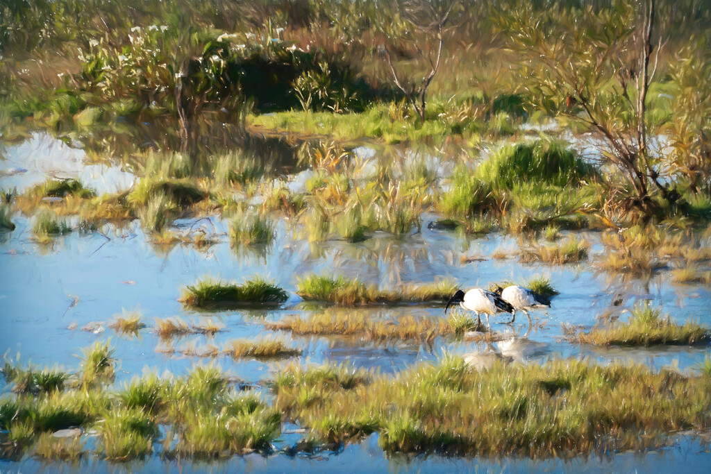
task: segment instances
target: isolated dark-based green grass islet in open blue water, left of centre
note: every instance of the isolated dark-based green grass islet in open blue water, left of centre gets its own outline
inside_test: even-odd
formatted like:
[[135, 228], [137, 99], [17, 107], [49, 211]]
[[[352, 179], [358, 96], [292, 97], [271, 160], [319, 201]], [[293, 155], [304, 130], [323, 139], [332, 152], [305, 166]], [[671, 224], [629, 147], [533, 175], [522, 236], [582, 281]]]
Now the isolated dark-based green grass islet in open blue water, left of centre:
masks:
[[289, 293], [261, 276], [255, 276], [242, 284], [213, 280], [208, 277], [198, 281], [195, 285], [188, 285], [183, 290], [180, 301], [186, 306], [195, 308], [214, 308], [230, 305], [284, 303], [288, 298]]

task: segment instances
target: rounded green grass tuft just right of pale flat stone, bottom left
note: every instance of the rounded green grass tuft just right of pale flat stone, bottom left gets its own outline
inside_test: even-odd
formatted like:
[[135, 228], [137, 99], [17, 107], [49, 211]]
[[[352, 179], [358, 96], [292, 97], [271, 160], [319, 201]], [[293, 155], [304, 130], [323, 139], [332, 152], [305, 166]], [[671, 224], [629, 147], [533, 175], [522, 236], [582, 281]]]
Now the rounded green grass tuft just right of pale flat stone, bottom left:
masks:
[[102, 453], [107, 459], [122, 461], [144, 458], [152, 451], [158, 427], [146, 413], [137, 409], [115, 409], [100, 420], [96, 429]]

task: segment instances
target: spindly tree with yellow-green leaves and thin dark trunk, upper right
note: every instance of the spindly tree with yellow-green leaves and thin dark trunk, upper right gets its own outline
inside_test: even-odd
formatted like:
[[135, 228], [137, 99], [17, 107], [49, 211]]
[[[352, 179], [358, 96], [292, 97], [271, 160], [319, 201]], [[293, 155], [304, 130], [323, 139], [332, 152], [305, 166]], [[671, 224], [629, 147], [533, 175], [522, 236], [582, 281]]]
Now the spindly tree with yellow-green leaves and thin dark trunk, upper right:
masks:
[[530, 101], [584, 124], [606, 144], [605, 158], [631, 185], [626, 204], [651, 213], [654, 194], [675, 203], [658, 136], [668, 114], [650, 114], [648, 94], [661, 36], [655, 0], [594, 9], [535, 9], [523, 2], [501, 16]]

